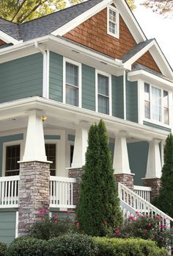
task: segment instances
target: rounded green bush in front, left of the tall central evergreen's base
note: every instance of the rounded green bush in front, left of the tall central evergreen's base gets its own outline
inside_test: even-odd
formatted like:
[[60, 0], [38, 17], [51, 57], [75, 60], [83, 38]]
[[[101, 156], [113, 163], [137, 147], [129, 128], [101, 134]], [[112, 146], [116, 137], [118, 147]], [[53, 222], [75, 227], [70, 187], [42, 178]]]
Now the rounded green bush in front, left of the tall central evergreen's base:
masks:
[[46, 252], [51, 256], [92, 256], [96, 255], [97, 246], [91, 236], [75, 233], [49, 240]]

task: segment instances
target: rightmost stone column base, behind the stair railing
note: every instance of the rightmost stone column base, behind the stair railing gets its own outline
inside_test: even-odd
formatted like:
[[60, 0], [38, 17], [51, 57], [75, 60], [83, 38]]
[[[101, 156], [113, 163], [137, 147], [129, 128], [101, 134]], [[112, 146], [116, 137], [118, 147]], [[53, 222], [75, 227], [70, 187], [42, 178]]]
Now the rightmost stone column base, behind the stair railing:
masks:
[[161, 179], [153, 178], [153, 179], [143, 179], [143, 184], [146, 187], [151, 187], [151, 201], [155, 196], [158, 196], [159, 188], [161, 187]]

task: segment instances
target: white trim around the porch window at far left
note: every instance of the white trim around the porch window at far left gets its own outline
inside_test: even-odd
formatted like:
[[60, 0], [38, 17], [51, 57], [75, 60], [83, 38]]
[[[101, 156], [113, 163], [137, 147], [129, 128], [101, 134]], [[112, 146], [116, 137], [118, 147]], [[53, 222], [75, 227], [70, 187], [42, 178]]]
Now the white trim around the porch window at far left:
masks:
[[20, 160], [23, 158], [23, 141], [7, 141], [3, 143], [2, 153], [2, 177], [5, 177], [6, 148], [7, 146], [20, 145]]

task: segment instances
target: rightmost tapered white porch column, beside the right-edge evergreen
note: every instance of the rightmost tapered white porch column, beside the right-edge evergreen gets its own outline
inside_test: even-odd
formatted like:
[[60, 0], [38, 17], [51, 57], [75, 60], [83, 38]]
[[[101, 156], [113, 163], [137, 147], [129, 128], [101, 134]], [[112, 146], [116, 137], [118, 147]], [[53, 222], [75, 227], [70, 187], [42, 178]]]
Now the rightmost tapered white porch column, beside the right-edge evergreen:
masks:
[[145, 179], [161, 178], [160, 142], [157, 139], [150, 141]]

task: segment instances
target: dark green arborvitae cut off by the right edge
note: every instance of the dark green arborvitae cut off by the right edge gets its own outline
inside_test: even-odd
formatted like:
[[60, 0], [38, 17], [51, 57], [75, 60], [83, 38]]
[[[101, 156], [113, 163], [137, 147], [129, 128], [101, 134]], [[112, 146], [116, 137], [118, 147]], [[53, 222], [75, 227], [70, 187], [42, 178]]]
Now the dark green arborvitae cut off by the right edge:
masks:
[[153, 205], [173, 218], [173, 135], [166, 138], [164, 147], [164, 165], [162, 168], [161, 188]]

